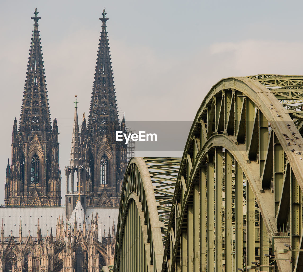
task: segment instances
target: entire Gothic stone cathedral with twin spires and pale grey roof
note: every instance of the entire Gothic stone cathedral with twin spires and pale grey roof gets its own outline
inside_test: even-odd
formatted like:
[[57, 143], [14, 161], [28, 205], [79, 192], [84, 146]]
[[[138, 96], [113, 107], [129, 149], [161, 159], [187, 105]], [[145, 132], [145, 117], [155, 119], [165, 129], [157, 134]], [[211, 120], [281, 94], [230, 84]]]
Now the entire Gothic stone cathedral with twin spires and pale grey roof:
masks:
[[50, 118], [37, 8], [19, 123], [13, 121], [12, 158], [0, 208], [0, 272], [98, 272], [112, 265], [127, 145], [118, 118], [105, 10], [88, 120], [79, 129], [77, 96], [65, 206], [61, 202], [57, 120]]

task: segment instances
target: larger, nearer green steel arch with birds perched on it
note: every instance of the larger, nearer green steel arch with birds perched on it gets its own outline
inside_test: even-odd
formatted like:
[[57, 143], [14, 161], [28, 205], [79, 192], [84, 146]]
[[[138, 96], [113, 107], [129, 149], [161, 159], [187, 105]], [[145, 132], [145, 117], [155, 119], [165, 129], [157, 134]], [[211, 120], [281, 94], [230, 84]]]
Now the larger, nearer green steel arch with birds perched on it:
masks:
[[212, 87], [182, 157], [162, 271], [235, 271], [251, 261], [299, 271], [301, 252], [278, 251], [284, 242], [302, 244], [303, 139], [292, 111], [303, 102], [302, 83], [302, 76], [258, 75]]

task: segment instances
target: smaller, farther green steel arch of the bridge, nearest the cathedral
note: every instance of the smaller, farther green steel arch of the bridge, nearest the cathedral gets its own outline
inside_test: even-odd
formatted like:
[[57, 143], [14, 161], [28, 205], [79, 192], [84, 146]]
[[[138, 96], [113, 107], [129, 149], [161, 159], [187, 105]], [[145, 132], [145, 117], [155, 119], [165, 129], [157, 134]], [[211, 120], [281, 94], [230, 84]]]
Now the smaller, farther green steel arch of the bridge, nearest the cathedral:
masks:
[[160, 271], [181, 158], [130, 160], [116, 233], [114, 271]]

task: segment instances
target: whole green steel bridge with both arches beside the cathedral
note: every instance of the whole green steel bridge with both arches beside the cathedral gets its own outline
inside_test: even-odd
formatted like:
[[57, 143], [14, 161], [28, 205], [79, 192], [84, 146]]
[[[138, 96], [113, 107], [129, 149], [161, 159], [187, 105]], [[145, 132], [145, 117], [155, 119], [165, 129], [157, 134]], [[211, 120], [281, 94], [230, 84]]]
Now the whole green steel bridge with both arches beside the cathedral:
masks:
[[302, 271], [302, 88], [303, 76], [222, 79], [181, 159], [133, 158], [114, 271]]

